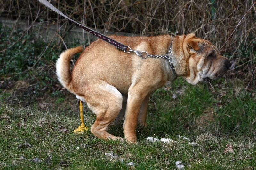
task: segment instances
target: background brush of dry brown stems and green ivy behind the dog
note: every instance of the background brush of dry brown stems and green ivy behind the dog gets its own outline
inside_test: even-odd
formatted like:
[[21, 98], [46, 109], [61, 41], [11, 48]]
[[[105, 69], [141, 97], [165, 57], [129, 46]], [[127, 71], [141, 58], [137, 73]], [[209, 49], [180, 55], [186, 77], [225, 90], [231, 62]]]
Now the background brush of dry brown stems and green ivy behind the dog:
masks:
[[[95, 30], [100, 29], [105, 34], [111, 31], [150, 36], [194, 32], [196, 36], [210, 40], [231, 60], [233, 65], [231, 71], [226, 74], [228, 77], [241, 79], [246, 90], [255, 89], [256, 5], [253, 1], [246, 0], [242, 3], [215, 0], [54, 0], [50, 2], [70, 18]], [[68, 31], [76, 26], [36, 0], [1, 1], [0, 16], [16, 21], [12, 29], [1, 26], [2, 82], [6, 83], [6, 79], [24, 78], [32, 68], [36, 68], [38, 77], [48, 77], [45, 81], [55, 82], [55, 60], [68, 43], [65, 40]], [[27, 29], [19, 29], [17, 23], [20, 20], [27, 21]], [[60, 33], [56, 30], [53, 37], [57, 41], [51, 39], [53, 37], [49, 42], [40, 41], [41, 37], [38, 39], [34, 29], [38, 23], [46, 23], [44, 29], [57, 25], [57, 28], [64, 28], [65, 32]], [[78, 45], [76, 40], [73, 41], [73, 46], [75, 45]], [[41, 75], [47, 72], [49, 72], [47, 76]], [[15, 75], [18, 76], [14, 79]]]

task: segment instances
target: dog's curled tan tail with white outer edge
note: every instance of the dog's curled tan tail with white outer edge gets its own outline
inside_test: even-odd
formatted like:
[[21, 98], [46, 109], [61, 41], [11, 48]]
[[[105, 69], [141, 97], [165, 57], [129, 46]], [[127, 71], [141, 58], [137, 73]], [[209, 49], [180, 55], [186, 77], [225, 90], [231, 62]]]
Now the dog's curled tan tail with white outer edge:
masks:
[[58, 80], [62, 86], [68, 89], [71, 93], [75, 93], [75, 91], [71, 82], [70, 60], [76, 53], [80, 53], [83, 50], [84, 49], [82, 46], [67, 49], [60, 54], [60, 57], [56, 62], [56, 73]]

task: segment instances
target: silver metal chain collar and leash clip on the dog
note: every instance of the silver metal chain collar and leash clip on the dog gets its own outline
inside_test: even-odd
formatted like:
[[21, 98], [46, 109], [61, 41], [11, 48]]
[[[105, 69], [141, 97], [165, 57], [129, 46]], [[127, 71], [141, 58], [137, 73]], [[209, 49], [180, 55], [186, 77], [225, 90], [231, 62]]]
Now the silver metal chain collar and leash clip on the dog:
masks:
[[[172, 40], [172, 42], [173, 42], [173, 40]], [[128, 46], [128, 48], [130, 48], [129, 51], [124, 51], [124, 52], [125, 52], [125, 53], [130, 53], [131, 51], [132, 51], [132, 52], [135, 52], [135, 53], [136, 53], [138, 56], [140, 56], [142, 59], [146, 59], [146, 58], [148, 58], [148, 57], [151, 57], [151, 58], [166, 58], [166, 59], [169, 60], [170, 66], [171, 66], [171, 68], [172, 68], [172, 71], [173, 71], [173, 73], [176, 75], [176, 71], [175, 71], [175, 68], [174, 68], [173, 63], [172, 63], [172, 57], [173, 57], [173, 53], [172, 53], [172, 42], [171, 42], [169, 51], [168, 51], [165, 55], [150, 55], [150, 54], [148, 54], [148, 52], [146, 52], [146, 51], [140, 52], [140, 51], [132, 50], [131, 47], [129, 47], [129, 46]], [[171, 56], [169, 56], [169, 55], [171, 55]]]

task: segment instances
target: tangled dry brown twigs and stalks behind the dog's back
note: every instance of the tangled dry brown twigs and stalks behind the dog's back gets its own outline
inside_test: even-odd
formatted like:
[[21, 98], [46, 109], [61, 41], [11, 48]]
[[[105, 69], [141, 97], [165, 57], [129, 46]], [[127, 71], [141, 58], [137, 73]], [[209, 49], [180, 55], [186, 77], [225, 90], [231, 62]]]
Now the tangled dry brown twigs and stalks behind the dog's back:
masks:
[[[255, 87], [256, 5], [253, 0], [243, 3], [232, 0], [55, 0], [51, 3], [70, 18], [105, 34], [126, 32], [150, 36], [193, 32], [196, 36], [213, 42], [232, 60], [232, 68], [236, 73], [229, 73], [231, 77], [239, 74], [246, 80], [247, 89]], [[68, 42], [63, 39], [68, 30], [75, 27], [73, 23], [35, 0], [1, 1], [0, 15], [17, 22], [26, 20], [28, 27], [23, 35], [33, 32], [38, 22], [64, 28], [65, 32], [56, 30], [51, 37], [59, 39], [59, 46], [66, 46]], [[17, 29], [18, 24], [15, 26], [14, 29]], [[55, 43], [52, 39], [48, 46]], [[5, 49], [0, 51], [2, 50]], [[41, 60], [44, 53], [42, 50], [38, 60]]]

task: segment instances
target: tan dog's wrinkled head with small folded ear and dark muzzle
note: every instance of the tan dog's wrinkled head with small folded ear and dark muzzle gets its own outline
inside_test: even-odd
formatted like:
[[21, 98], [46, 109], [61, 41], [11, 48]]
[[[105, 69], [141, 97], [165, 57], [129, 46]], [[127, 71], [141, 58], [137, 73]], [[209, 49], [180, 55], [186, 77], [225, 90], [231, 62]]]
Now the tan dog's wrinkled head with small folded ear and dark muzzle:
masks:
[[184, 42], [186, 43], [189, 70], [185, 79], [189, 83], [197, 84], [198, 82], [217, 80], [230, 67], [228, 58], [220, 55], [218, 49], [209, 41], [192, 37]]

